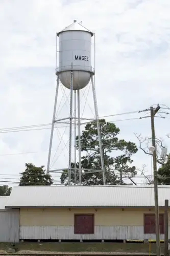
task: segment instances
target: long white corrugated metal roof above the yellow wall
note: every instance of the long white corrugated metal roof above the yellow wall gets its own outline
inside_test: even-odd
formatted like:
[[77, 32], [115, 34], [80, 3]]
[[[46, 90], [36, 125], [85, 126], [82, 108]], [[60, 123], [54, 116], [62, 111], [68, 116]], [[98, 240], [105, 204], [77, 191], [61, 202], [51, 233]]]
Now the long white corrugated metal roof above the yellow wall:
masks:
[[[170, 186], [159, 186], [159, 206], [170, 201]], [[18, 186], [7, 207], [154, 206], [153, 186]]]

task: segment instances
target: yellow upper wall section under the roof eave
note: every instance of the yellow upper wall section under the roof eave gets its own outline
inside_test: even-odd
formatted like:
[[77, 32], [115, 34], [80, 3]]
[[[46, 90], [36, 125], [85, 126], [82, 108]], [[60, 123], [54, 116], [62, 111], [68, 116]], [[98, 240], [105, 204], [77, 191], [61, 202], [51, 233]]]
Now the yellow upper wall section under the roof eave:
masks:
[[154, 213], [154, 208], [21, 208], [20, 225], [74, 226], [74, 214], [94, 214], [95, 226], [143, 226], [147, 213]]

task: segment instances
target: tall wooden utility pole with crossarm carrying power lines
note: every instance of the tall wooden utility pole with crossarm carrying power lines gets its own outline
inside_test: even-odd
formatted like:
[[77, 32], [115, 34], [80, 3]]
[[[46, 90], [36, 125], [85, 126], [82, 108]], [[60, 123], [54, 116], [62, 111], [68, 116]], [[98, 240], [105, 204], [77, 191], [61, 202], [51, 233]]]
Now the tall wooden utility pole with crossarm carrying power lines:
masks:
[[158, 205], [158, 177], [157, 177], [157, 157], [156, 157], [156, 143], [155, 143], [155, 125], [154, 116], [159, 111], [160, 106], [153, 108], [151, 106], [151, 129], [152, 129], [152, 145], [153, 151], [153, 167], [154, 167], [154, 196], [155, 196], [155, 229], [156, 229], [156, 254], [160, 256], [160, 230], [159, 230], [159, 205]]

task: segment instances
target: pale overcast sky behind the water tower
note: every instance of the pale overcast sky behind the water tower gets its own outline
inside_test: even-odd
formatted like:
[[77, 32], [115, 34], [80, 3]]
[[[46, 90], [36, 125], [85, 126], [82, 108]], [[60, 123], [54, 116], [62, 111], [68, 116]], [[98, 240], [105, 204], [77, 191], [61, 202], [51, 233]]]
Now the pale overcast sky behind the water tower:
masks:
[[[99, 116], [144, 110], [157, 103], [170, 107], [169, 0], [0, 0], [0, 10], [2, 129], [52, 122], [56, 32], [74, 19], [96, 35]], [[120, 138], [138, 143], [134, 133], [151, 136], [150, 118], [115, 124]], [[167, 146], [169, 124], [168, 118], [155, 120], [156, 135]], [[0, 134], [1, 177], [22, 172], [26, 162], [46, 167], [50, 133], [46, 129]], [[151, 173], [150, 156], [139, 151], [133, 159], [138, 168], [147, 164]], [[62, 167], [63, 161], [66, 164], [63, 158], [58, 161], [55, 168]]]

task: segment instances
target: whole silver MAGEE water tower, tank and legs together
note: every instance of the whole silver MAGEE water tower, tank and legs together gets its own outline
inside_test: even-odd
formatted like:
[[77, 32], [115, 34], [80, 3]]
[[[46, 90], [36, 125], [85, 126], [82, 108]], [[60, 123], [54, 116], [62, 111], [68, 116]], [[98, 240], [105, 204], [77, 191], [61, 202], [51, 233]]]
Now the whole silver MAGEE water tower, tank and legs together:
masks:
[[[79, 168], [77, 168], [77, 172], [79, 172], [79, 185], [82, 183], [82, 166], [81, 166], [81, 116], [80, 116], [80, 90], [85, 88], [91, 79], [91, 87], [92, 87], [92, 95], [93, 95], [93, 104], [94, 104], [94, 112], [95, 119], [94, 121], [97, 123], [98, 129], [98, 138], [99, 138], [99, 148], [100, 148], [100, 156], [101, 156], [101, 170], [103, 177], [103, 184], [106, 184], [105, 178], [105, 166], [103, 159], [103, 150], [102, 150], [102, 142], [101, 142], [101, 132], [99, 125], [99, 115], [98, 115], [98, 106], [96, 102], [95, 95], [95, 86], [93, 82], [94, 76], [94, 68], [91, 66], [91, 42], [93, 33], [83, 27], [80, 23], [77, 23], [74, 20], [74, 23], [57, 33], [57, 87], [56, 87], [56, 97], [54, 104], [54, 114], [53, 114], [53, 123], [51, 130], [51, 138], [50, 138], [50, 148], [48, 152], [48, 162], [47, 162], [47, 173], [54, 173], [62, 169], [50, 169], [50, 161], [51, 161], [51, 151], [52, 151], [52, 143], [53, 143], [53, 133], [54, 133], [54, 124], [58, 122], [66, 123], [66, 120], [69, 122], [69, 156], [68, 156], [68, 165], [65, 166], [64, 169], [68, 169], [68, 184], [71, 182], [71, 155], [74, 154], [72, 152], [72, 126], [74, 125], [74, 119], [77, 120], [77, 130], [75, 132], [75, 140], [76, 134], [78, 135], [78, 158], [79, 158]], [[95, 35], [94, 35], [95, 37]], [[94, 40], [95, 43], [95, 40]], [[58, 49], [59, 45], [59, 49]], [[95, 49], [95, 48], [94, 48]], [[94, 52], [95, 54], [95, 52]], [[59, 81], [62, 83], [63, 87], [66, 87], [70, 90], [69, 96], [69, 116], [66, 116], [61, 119], [56, 119], [56, 105], [58, 100], [58, 91], [59, 91]], [[75, 105], [77, 105], [77, 112], [75, 109], [75, 116], [72, 115], [73, 109], [73, 91], [75, 94]], [[77, 96], [76, 96], [77, 94]], [[77, 102], [76, 102], [77, 101]], [[76, 104], [77, 103], [77, 104]], [[76, 154], [76, 153], [75, 153]], [[75, 170], [76, 171], [76, 170]], [[90, 169], [88, 170], [90, 172]], [[91, 170], [92, 171], [92, 170]]]

